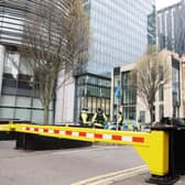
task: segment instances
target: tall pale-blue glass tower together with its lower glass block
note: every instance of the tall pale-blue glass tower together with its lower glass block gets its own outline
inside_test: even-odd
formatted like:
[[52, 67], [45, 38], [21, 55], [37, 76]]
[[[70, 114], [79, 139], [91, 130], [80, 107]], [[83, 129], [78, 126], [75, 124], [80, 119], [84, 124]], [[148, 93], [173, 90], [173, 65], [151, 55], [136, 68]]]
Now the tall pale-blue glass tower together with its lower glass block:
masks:
[[111, 69], [133, 63], [148, 44], [155, 44], [154, 4], [154, 0], [84, 0], [91, 37], [88, 63], [84, 74], [76, 75], [75, 97], [69, 98], [75, 99], [75, 120], [83, 107], [90, 113], [101, 107], [109, 116]]

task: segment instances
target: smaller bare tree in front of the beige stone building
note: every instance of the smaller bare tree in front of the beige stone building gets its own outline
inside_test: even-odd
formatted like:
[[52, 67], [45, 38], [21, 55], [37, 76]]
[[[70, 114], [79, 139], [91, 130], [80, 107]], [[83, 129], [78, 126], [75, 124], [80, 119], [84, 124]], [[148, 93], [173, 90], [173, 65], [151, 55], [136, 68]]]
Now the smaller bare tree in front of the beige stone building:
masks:
[[[137, 62], [131, 73], [132, 86], [138, 97], [144, 102], [150, 111], [152, 123], [152, 111], [155, 95], [160, 86], [170, 80], [170, 66], [167, 64], [167, 52], [153, 52], [149, 46], [148, 52]], [[152, 52], [151, 52], [152, 51]]]

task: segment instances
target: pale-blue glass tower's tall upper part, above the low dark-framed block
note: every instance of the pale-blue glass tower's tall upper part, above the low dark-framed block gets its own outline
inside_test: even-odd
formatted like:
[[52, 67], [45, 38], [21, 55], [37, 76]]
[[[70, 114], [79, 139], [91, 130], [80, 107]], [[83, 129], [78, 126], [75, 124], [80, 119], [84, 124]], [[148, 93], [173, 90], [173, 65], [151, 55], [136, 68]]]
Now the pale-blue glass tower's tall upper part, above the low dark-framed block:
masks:
[[85, 0], [85, 4], [91, 32], [87, 72], [110, 74], [155, 42], [154, 0]]

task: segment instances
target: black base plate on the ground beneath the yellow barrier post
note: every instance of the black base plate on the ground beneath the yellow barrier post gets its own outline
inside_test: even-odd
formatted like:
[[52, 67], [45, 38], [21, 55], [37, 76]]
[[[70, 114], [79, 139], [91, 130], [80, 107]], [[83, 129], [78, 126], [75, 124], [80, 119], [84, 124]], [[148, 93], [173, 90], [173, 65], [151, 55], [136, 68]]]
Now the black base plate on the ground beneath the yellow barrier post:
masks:
[[149, 184], [157, 184], [157, 185], [173, 185], [179, 179], [179, 176], [157, 176], [151, 175], [145, 179]]

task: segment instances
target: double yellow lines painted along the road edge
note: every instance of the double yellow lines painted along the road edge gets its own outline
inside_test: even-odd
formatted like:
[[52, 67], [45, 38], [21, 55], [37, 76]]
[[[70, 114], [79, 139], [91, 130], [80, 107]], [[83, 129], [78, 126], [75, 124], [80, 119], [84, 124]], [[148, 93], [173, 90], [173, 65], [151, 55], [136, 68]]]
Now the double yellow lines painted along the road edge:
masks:
[[148, 171], [148, 167], [145, 165], [141, 165], [133, 168], [127, 168], [123, 171], [87, 178], [77, 183], [73, 183], [72, 185], [102, 185], [102, 184], [108, 185], [115, 182], [116, 179], [119, 179], [119, 178], [124, 179], [146, 171]]

